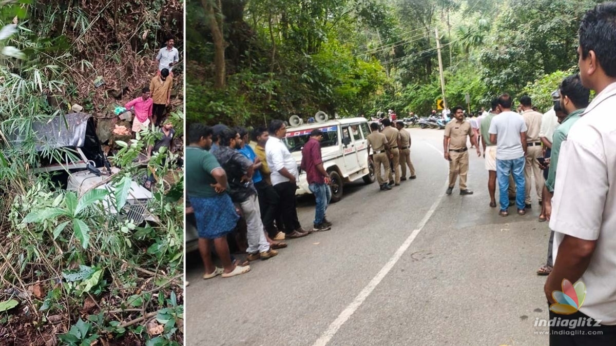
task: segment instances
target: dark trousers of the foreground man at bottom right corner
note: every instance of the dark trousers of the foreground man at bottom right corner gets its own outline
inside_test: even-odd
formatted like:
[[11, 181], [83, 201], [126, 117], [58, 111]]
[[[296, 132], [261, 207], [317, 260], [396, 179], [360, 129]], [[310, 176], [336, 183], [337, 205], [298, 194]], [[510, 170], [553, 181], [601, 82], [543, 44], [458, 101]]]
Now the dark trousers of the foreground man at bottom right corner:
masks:
[[[591, 326], [586, 326], [589, 317], [579, 311], [572, 315], [559, 315], [550, 311], [549, 319], [553, 318], [560, 321], [561, 326], [549, 328], [550, 346], [616, 346], [616, 326], [599, 325], [595, 327], [594, 319], [591, 319]], [[586, 323], [580, 326], [584, 318], [586, 318]], [[562, 326], [563, 321], [566, 321], [567, 326]], [[575, 328], [569, 328], [571, 322], [575, 323]]]

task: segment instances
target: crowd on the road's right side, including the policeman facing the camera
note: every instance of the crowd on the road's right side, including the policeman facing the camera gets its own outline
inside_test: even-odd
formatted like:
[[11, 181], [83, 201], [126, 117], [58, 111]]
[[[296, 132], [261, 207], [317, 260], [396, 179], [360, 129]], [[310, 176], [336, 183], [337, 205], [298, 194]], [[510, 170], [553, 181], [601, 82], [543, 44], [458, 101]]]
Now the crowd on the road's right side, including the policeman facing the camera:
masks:
[[[615, 23], [616, 2], [599, 4], [586, 13], [579, 31], [580, 73], [561, 81], [546, 113], [538, 113], [527, 95], [513, 111], [513, 99], [502, 94], [479, 121], [466, 121], [461, 107], [453, 108], [455, 119], [445, 128], [445, 159], [450, 161], [447, 194], [458, 175], [460, 194], [472, 193], [466, 188], [466, 143], [470, 139], [477, 155], [482, 155], [480, 137], [489, 172], [490, 207], [500, 206], [499, 214], [506, 217], [512, 199], [517, 214], [524, 215], [532, 207], [534, 193], [541, 206], [538, 221], [549, 221], [546, 264], [537, 270], [538, 275], [548, 275], [548, 305], [569, 304], [553, 292], [573, 289], [577, 281], [585, 284], [586, 299], [577, 308], [550, 308], [550, 320], [563, 320], [550, 324], [551, 345], [586, 345], [590, 340], [594, 345], [613, 345], [616, 340]], [[591, 91], [596, 92], [593, 100]], [[570, 333], [569, 321], [582, 320], [598, 323], [575, 324], [576, 333]]]

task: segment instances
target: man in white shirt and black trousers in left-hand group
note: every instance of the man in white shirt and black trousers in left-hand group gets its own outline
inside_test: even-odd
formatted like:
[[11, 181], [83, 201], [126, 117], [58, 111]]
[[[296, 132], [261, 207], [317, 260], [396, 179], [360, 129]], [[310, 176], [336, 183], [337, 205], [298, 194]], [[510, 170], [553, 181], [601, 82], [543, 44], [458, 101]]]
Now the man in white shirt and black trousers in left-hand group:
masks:
[[[299, 179], [298, 164], [286, 147], [283, 139], [286, 125], [282, 120], [273, 120], [269, 126], [270, 138], [265, 143], [265, 158], [272, 174], [272, 186], [280, 196], [280, 212], [285, 223], [285, 238], [299, 238], [310, 231], [304, 231], [299, 224], [296, 209], [295, 190]], [[280, 228], [281, 225], [278, 225]]]

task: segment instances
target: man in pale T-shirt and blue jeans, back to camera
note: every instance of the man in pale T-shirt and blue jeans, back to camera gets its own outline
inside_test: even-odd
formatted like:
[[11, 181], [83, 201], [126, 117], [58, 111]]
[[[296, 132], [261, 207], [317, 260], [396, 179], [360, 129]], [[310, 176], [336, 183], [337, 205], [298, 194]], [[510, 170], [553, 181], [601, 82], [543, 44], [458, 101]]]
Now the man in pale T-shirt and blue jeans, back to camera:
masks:
[[511, 96], [503, 94], [498, 98], [500, 114], [492, 119], [488, 134], [490, 142], [496, 143], [496, 179], [500, 199], [501, 216], [509, 215], [509, 174], [513, 173], [516, 182], [517, 214], [524, 215], [525, 179], [524, 164], [526, 156], [526, 124], [524, 118], [511, 111]]

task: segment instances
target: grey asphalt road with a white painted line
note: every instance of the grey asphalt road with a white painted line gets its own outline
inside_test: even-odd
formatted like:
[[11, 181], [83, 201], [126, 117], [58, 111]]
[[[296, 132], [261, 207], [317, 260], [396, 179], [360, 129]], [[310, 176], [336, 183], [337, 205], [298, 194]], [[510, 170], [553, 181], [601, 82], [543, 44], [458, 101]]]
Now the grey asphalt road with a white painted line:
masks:
[[[410, 129], [418, 178], [392, 191], [361, 180], [331, 204], [331, 231], [287, 241], [235, 278], [201, 280], [187, 255], [187, 345], [547, 345], [548, 225], [488, 207], [484, 161], [444, 195], [442, 131]], [[498, 199], [498, 192], [496, 198]], [[298, 207], [312, 224], [314, 200]]]

